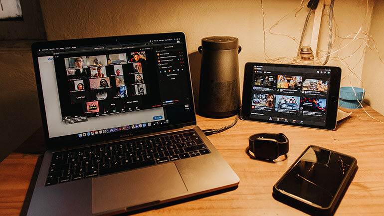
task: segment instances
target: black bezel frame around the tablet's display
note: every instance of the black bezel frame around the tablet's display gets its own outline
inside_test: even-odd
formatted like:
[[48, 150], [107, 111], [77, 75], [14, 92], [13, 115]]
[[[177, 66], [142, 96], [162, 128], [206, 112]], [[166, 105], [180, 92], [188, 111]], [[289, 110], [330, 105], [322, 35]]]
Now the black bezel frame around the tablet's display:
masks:
[[[300, 124], [292, 122], [276, 122], [263, 119], [250, 118], [250, 107], [251, 107], [251, 96], [252, 96], [252, 84], [253, 84], [253, 73], [254, 65], [258, 66], [278, 66], [278, 67], [293, 67], [293, 68], [309, 68], [309, 69], [331, 69], [332, 73], [330, 76], [330, 86], [328, 88], [329, 95], [327, 98], [328, 108], [326, 115], [326, 125], [310, 125], [310, 124]], [[336, 128], [336, 118], [337, 110], [339, 104], [339, 93], [340, 93], [340, 79], [341, 79], [341, 68], [334, 66], [317, 66], [317, 65], [295, 65], [295, 64], [271, 64], [271, 63], [258, 63], [258, 62], [247, 62], [244, 67], [244, 82], [243, 82], [243, 94], [241, 100], [241, 119], [256, 121], [256, 122], [266, 122], [272, 124], [281, 124], [281, 125], [291, 125], [298, 127], [308, 127], [308, 128], [317, 128], [324, 130], [334, 130]]]

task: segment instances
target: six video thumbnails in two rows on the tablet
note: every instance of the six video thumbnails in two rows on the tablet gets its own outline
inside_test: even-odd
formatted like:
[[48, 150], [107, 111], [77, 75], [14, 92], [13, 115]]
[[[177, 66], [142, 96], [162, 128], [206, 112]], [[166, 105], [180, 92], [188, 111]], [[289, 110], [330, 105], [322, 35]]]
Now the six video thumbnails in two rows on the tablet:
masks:
[[255, 70], [251, 111], [325, 116], [328, 79], [257, 72]]

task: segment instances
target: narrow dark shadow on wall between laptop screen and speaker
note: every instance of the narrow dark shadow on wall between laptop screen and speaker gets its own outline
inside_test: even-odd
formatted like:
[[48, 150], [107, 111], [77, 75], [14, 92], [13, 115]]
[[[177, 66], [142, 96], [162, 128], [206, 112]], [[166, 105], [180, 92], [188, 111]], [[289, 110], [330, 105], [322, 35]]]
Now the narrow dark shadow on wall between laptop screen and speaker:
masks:
[[193, 89], [193, 100], [196, 113], [198, 113], [198, 93], [200, 90], [200, 65], [201, 65], [201, 54], [199, 52], [192, 52], [188, 55], [190, 59], [192, 89]]

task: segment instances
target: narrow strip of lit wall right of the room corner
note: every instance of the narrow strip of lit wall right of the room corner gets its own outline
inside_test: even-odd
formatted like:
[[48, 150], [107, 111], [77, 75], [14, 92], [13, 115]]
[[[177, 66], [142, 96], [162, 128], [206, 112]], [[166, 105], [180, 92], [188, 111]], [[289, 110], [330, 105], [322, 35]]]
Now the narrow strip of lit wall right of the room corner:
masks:
[[[370, 34], [376, 38], [376, 45], [384, 60], [384, 2], [376, 1], [372, 14]], [[372, 44], [372, 43], [370, 43]], [[372, 44], [373, 45], [373, 44]], [[367, 89], [366, 102], [375, 110], [384, 114], [384, 63], [380, 61], [376, 50], [368, 49], [364, 61], [363, 82]]]

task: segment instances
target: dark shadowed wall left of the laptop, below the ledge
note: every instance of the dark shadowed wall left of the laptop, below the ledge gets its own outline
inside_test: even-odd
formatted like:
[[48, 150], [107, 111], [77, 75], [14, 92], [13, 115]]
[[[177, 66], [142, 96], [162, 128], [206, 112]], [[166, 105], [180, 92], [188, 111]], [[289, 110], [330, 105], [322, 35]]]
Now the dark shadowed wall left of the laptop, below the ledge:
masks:
[[0, 161], [41, 127], [30, 49], [0, 52]]

